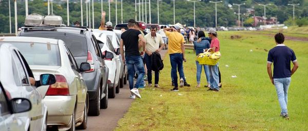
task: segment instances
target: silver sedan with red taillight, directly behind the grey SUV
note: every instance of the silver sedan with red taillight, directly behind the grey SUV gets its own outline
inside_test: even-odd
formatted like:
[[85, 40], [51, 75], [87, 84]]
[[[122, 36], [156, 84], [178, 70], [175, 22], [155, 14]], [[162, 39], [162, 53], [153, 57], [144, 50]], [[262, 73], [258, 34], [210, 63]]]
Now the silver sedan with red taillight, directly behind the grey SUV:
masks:
[[55, 84], [40, 88], [42, 94], [46, 92], [48, 125], [56, 125], [61, 130], [74, 130], [75, 126], [85, 129], [88, 96], [81, 73], [89, 71], [90, 64], [83, 62], [78, 68], [65, 43], [58, 39], [3, 37], [1, 42], [10, 42], [23, 53], [35, 79], [40, 79], [41, 74], [55, 75]]

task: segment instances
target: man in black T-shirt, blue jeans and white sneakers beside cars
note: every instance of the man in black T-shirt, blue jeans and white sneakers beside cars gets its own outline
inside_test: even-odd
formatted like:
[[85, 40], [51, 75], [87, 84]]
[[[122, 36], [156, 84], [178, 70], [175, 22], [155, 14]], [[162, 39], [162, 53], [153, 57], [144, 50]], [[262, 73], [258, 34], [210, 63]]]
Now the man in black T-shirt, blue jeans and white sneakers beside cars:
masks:
[[[140, 54], [143, 54], [145, 52], [145, 40], [140, 31], [134, 29], [135, 25], [136, 21], [134, 19], [128, 20], [128, 25], [127, 25], [128, 30], [122, 33], [120, 41], [120, 53], [123, 61], [126, 60], [129, 89], [131, 92], [130, 98], [132, 99], [135, 99], [136, 96], [138, 98], [141, 98], [138, 88], [139, 84], [143, 80], [145, 73], [143, 62], [140, 57]], [[139, 39], [141, 41], [140, 44], [139, 44]], [[123, 50], [124, 46], [125, 46], [125, 59]], [[143, 49], [141, 53], [139, 53], [140, 48]], [[139, 71], [139, 75], [136, 84], [133, 86], [134, 65], [136, 65], [137, 70]]]

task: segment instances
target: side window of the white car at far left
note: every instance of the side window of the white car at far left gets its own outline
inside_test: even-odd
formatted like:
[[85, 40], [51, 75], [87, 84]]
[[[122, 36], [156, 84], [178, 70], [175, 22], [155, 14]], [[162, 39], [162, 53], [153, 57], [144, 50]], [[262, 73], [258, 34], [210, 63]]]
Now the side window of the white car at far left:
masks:
[[13, 63], [12, 63], [12, 65], [13, 65], [13, 75], [14, 75], [14, 78], [15, 78], [16, 85], [17, 86], [22, 86], [24, 84], [29, 85], [28, 77], [26, 75], [24, 66], [23, 66], [22, 61], [18, 57], [18, 54], [15, 50], [12, 52], [12, 56], [13, 56], [13, 60], [12, 60], [13, 61]]

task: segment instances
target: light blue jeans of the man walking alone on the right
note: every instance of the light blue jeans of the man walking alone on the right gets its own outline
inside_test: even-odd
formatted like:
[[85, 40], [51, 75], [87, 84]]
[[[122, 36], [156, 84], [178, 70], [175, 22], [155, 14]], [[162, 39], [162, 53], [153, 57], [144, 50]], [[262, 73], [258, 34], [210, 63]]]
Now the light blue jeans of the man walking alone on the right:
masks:
[[291, 77], [275, 78], [274, 84], [281, 108], [281, 114], [287, 114], [287, 90], [291, 83]]

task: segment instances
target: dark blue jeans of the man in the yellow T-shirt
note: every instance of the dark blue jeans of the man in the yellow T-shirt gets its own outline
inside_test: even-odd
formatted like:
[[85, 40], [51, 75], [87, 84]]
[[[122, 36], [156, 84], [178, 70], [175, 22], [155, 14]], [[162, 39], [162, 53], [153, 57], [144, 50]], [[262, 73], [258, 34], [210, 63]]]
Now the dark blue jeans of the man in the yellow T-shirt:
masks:
[[[180, 74], [184, 75], [183, 72], [183, 54], [182, 53], [174, 53], [169, 54], [170, 56], [170, 64], [171, 64], [171, 77], [174, 79], [175, 88], [178, 88], [178, 74], [177, 69]], [[184, 78], [183, 78], [184, 79]]]

